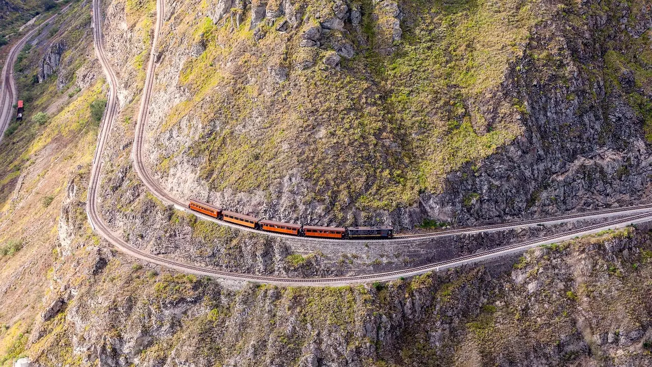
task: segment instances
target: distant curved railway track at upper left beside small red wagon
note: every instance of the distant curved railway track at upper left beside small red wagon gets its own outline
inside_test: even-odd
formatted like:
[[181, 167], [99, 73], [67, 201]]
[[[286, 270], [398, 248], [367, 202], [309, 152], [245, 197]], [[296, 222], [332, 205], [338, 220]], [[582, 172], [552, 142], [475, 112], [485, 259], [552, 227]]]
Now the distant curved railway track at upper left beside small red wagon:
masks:
[[34, 29], [31, 29], [31, 31], [27, 32], [22, 39], [20, 39], [18, 42], [16, 42], [16, 44], [14, 44], [14, 46], [12, 46], [12, 48], [10, 48], [1, 75], [2, 83], [0, 86], [0, 142], [5, 137], [5, 131], [7, 130], [7, 127], [9, 127], [9, 123], [14, 116], [13, 105], [16, 101], [18, 101], [18, 88], [16, 88], [16, 81], [14, 80], [14, 66], [18, 60], [18, 54], [20, 54], [20, 52], [23, 50], [25, 44], [27, 44], [27, 41], [34, 37], [34, 35], [37, 34], [37, 32], [40, 31], [43, 27], [50, 24], [50, 22], [57, 18], [59, 14], [66, 12], [68, 8], [70, 8], [70, 5], [72, 4], [68, 4], [67, 7], [59, 10], [57, 14], [54, 14], [45, 22], [39, 24]]

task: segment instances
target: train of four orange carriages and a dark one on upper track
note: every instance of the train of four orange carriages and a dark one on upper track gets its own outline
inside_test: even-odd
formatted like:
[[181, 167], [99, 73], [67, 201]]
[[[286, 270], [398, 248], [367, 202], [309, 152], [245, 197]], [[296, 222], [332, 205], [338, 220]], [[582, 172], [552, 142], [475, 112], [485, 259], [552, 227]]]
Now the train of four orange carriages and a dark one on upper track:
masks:
[[348, 240], [362, 240], [366, 238], [390, 238], [394, 234], [394, 228], [385, 227], [320, 227], [316, 225], [299, 225], [259, 219], [251, 215], [239, 214], [230, 210], [222, 210], [207, 202], [191, 199], [188, 204], [190, 210], [221, 219], [229, 223], [235, 223], [258, 229], [259, 231], [276, 232], [289, 234], [291, 236], [336, 238]]

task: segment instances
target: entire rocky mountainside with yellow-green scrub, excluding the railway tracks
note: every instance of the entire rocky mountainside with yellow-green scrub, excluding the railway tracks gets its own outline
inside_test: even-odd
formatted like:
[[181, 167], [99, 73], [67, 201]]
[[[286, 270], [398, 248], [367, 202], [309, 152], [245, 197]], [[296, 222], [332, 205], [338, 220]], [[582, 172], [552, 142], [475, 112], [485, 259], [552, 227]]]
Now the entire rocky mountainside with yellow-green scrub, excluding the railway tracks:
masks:
[[[108, 88], [89, 5], [46, 27], [16, 68], [27, 114], [0, 146], [0, 366], [23, 356], [36, 366], [652, 366], [647, 227], [346, 287], [230, 283], [117, 253], [84, 211]], [[252, 274], [344, 275], [587, 224], [370, 248], [278, 240], [177, 212], [147, 193], [130, 159], [155, 3], [102, 7], [120, 111], [100, 208], [140, 249]], [[166, 9], [145, 148], [179, 197], [406, 229], [647, 200], [643, 1]]]

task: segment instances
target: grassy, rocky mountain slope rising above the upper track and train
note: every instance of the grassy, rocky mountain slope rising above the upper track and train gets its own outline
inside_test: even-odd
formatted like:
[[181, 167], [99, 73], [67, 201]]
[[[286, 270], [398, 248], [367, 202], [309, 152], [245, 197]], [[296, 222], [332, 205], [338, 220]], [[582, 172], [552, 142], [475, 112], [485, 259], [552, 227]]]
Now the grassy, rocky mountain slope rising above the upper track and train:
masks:
[[407, 228], [647, 200], [643, 3], [186, 1], [165, 19], [148, 152], [179, 197]]

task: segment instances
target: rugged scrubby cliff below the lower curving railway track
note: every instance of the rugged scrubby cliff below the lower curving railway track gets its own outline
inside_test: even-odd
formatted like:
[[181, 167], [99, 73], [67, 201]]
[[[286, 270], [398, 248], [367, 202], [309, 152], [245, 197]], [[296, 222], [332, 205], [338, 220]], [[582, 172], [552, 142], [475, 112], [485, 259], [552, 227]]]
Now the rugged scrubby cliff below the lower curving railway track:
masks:
[[649, 236], [535, 249], [497, 277], [337, 288], [231, 289], [89, 248], [57, 270], [31, 350], [42, 366], [646, 366]]

